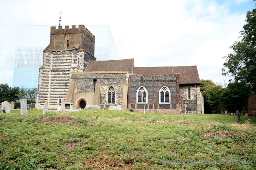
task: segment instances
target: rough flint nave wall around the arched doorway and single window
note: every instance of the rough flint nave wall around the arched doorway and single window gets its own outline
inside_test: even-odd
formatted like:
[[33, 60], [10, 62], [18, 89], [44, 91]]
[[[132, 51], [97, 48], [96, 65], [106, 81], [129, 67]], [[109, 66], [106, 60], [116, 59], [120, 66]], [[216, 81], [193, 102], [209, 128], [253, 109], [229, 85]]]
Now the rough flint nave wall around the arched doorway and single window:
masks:
[[[112, 86], [115, 90], [115, 104], [122, 105], [123, 100], [123, 86], [124, 82], [127, 81], [127, 73], [92, 73], [92, 72], [74, 72], [71, 73], [71, 80], [75, 81], [76, 93], [93, 93], [94, 92], [94, 82], [93, 79], [100, 82], [100, 105], [104, 105], [106, 100], [108, 100], [108, 89]], [[79, 99], [74, 99], [74, 102]], [[90, 103], [90, 101], [87, 101]], [[109, 105], [109, 104], [108, 104]], [[111, 105], [111, 104], [110, 104]]]

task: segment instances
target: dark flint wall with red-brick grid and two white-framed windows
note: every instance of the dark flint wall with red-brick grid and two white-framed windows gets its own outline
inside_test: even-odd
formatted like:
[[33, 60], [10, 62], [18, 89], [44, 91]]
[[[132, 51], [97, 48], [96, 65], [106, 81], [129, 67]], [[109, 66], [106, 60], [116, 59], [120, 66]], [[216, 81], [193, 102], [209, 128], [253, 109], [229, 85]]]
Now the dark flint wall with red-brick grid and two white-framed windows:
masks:
[[[144, 112], [144, 104], [137, 104], [137, 90], [144, 86], [148, 91], [146, 112], [179, 113], [179, 75], [129, 75], [128, 81], [128, 109]], [[171, 91], [170, 103], [159, 103], [159, 90], [166, 86]]]

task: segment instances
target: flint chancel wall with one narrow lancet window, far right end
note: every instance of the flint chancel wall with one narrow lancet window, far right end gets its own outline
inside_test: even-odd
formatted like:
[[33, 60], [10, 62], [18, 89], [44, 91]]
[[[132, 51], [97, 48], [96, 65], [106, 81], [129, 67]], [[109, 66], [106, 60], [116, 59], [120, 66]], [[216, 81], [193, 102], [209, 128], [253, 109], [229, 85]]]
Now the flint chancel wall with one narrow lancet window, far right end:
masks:
[[[190, 99], [188, 99], [188, 88], [190, 87]], [[197, 92], [200, 92], [200, 85], [180, 85], [180, 113], [197, 113]], [[200, 96], [201, 97], [201, 96]]]

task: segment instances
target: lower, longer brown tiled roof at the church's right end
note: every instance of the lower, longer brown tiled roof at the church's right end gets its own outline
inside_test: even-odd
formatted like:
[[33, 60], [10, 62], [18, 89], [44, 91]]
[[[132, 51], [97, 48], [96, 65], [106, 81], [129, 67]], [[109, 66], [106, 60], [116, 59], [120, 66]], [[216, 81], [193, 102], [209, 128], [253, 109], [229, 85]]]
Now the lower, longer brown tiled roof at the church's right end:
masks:
[[196, 65], [175, 67], [134, 67], [133, 74], [180, 74], [180, 84], [201, 83]]

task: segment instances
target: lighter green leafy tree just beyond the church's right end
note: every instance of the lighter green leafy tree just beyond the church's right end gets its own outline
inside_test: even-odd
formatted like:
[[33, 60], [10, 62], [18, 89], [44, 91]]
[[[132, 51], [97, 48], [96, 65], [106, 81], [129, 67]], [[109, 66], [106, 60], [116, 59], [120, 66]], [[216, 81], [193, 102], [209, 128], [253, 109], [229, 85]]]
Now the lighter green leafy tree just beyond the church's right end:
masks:
[[217, 113], [219, 111], [221, 85], [216, 85], [212, 80], [201, 80], [200, 91], [204, 96], [204, 113]]

